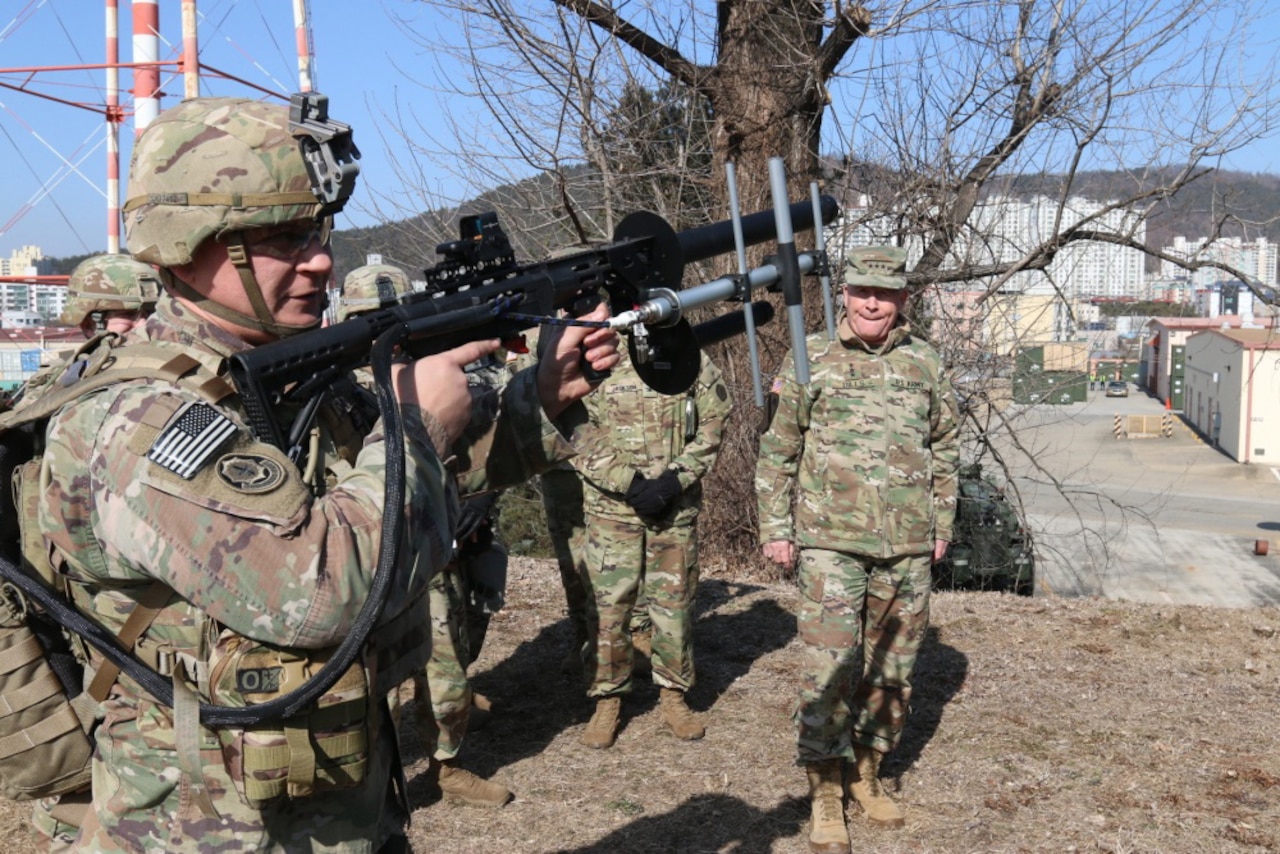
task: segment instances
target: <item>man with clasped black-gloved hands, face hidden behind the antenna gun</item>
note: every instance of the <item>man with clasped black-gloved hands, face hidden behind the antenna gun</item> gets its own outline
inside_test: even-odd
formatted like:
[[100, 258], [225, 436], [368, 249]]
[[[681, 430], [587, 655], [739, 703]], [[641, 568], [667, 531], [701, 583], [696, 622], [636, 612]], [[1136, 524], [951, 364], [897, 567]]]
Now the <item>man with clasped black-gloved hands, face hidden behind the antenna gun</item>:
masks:
[[608, 748], [617, 737], [622, 695], [631, 691], [631, 612], [644, 589], [653, 617], [653, 680], [663, 721], [681, 739], [705, 729], [685, 703], [694, 684], [692, 606], [698, 592], [695, 526], [701, 479], [719, 452], [730, 396], [703, 355], [689, 394], [650, 389], [625, 355], [589, 398], [594, 425], [607, 425], [582, 449], [588, 585], [588, 697], [595, 713], [582, 743]]

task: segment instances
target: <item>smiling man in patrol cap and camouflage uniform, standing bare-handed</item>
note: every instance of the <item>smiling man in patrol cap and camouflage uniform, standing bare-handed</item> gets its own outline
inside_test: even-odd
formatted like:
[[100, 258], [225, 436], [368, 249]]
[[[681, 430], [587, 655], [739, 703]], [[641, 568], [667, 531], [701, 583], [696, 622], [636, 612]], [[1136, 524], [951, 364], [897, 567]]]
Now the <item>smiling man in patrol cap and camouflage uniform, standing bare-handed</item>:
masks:
[[842, 761], [849, 795], [868, 817], [902, 823], [879, 787], [879, 758], [902, 734], [931, 566], [955, 516], [955, 394], [937, 352], [902, 320], [904, 261], [893, 247], [846, 256], [838, 339], [809, 338], [808, 385], [783, 362], [760, 439], [764, 556], [800, 562], [806, 654], [795, 723], [814, 851], [849, 851]]

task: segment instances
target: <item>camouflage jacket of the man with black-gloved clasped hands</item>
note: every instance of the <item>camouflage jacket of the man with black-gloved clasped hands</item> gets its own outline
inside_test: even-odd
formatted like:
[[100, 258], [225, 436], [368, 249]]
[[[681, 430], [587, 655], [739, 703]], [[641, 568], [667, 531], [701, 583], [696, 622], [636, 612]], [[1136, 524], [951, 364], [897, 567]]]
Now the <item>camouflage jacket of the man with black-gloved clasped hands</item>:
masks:
[[[593, 433], [573, 467], [593, 487], [584, 490], [586, 512], [635, 522], [635, 511], [620, 503], [631, 479], [636, 474], [657, 478], [671, 469], [684, 492], [663, 521], [694, 524], [701, 506], [701, 479], [716, 463], [732, 406], [728, 388], [710, 357], [703, 355], [701, 370], [689, 394], [659, 394], [644, 384], [631, 360], [623, 356], [585, 403]], [[686, 440], [690, 408], [694, 435]]]

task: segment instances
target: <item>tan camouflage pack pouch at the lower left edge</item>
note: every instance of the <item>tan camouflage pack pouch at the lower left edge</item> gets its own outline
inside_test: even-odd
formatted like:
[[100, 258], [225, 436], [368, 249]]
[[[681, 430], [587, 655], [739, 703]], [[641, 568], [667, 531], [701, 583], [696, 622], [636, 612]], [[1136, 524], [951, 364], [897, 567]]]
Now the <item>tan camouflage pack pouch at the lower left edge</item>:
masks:
[[[29, 800], [76, 791], [90, 782], [93, 745], [88, 737], [92, 704], [76, 711], [69, 691], [86, 699], [81, 685], [64, 684], [50, 656], [72, 658], [56, 624], [40, 625], [22, 595], [0, 588], [0, 791]], [[60, 650], [49, 650], [59, 644]], [[72, 676], [73, 679], [73, 676]]]

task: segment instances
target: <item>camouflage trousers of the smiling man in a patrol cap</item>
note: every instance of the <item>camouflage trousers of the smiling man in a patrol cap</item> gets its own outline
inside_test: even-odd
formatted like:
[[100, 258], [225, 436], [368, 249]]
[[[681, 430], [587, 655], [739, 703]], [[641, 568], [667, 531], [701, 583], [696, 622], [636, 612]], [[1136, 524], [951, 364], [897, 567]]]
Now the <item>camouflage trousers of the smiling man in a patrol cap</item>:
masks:
[[876, 560], [801, 549], [797, 762], [888, 753], [902, 735], [929, 624], [931, 556]]

